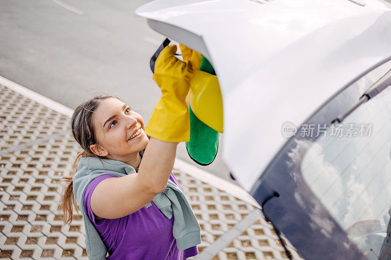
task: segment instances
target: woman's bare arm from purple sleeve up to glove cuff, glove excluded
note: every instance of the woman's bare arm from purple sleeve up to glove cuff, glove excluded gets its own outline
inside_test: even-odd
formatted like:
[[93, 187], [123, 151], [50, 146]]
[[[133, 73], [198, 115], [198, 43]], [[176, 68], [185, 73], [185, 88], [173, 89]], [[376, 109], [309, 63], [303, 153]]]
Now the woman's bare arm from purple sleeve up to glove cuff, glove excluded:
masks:
[[166, 187], [174, 167], [176, 142], [151, 137], [138, 173], [101, 181], [91, 195], [91, 210], [101, 218], [118, 218], [144, 207]]

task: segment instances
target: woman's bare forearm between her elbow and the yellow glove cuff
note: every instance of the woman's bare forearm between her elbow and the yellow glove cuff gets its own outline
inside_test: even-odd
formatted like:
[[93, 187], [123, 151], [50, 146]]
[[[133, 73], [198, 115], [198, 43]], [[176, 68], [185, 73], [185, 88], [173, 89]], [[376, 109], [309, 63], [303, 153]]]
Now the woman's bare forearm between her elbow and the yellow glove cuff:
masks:
[[164, 190], [174, 167], [177, 144], [151, 137], [137, 174], [146, 189], [156, 194]]

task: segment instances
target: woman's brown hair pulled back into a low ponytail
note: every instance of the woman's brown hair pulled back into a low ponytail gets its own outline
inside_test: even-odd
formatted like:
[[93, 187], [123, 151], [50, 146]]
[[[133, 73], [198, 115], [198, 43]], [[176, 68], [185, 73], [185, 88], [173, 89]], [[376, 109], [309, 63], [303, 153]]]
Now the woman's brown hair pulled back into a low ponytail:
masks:
[[80, 159], [82, 157], [105, 158], [91, 152], [89, 146], [96, 143], [92, 115], [95, 112], [96, 108], [99, 106], [99, 104], [102, 102], [102, 100], [108, 98], [116, 98], [118, 100], [121, 100], [119, 97], [112, 95], [100, 95], [84, 102], [83, 104], [78, 106], [73, 112], [71, 119], [72, 134], [76, 142], [78, 142], [79, 145], [83, 148], [83, 151], [77, 153], [69, 177], [62, 178], [62, 181], [69, 182], [67, 186], [65, 185], [65, 191], [61, 198], [60, 205], [60, 208], [64, 214], [63, 219], [65, 224], [72, 222], [73, 206], [76, 208], [77, 211], [79, 211], [76, 197], [73, 195], [72, 177], [77, 172], [77, 166], [79, 164]]

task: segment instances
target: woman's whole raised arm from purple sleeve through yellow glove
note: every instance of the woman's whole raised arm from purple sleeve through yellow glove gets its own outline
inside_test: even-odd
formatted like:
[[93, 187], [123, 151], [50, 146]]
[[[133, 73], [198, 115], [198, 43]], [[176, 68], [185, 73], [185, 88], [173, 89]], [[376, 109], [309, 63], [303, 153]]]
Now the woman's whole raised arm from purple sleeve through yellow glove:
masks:
[[178, 142], [190, 140], [186, 104], [193, 70], [190, 62], [174, 57], [176, 46], [166, 46], [155, 62], [153, 79], [163, 96], [156, 104], [146, 133], [151, 139], [138, 173], [101, 181], [91, 195], [91, 209], [102, 218], [124, 217], [150, 202], [166, 187], [173, 170]]

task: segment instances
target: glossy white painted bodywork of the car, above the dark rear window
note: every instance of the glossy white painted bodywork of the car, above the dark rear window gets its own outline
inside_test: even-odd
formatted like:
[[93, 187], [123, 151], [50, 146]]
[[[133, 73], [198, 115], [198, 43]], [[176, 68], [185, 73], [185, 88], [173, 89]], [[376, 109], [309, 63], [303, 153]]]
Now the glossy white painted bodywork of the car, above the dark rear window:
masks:
[[223, 160], [250, 191], [287, 141], [284, 122], [302, 124], [391, 56], [391, 4], [365, 3], [155, 0], [136, 13], [214, 65], [223, 97]]

